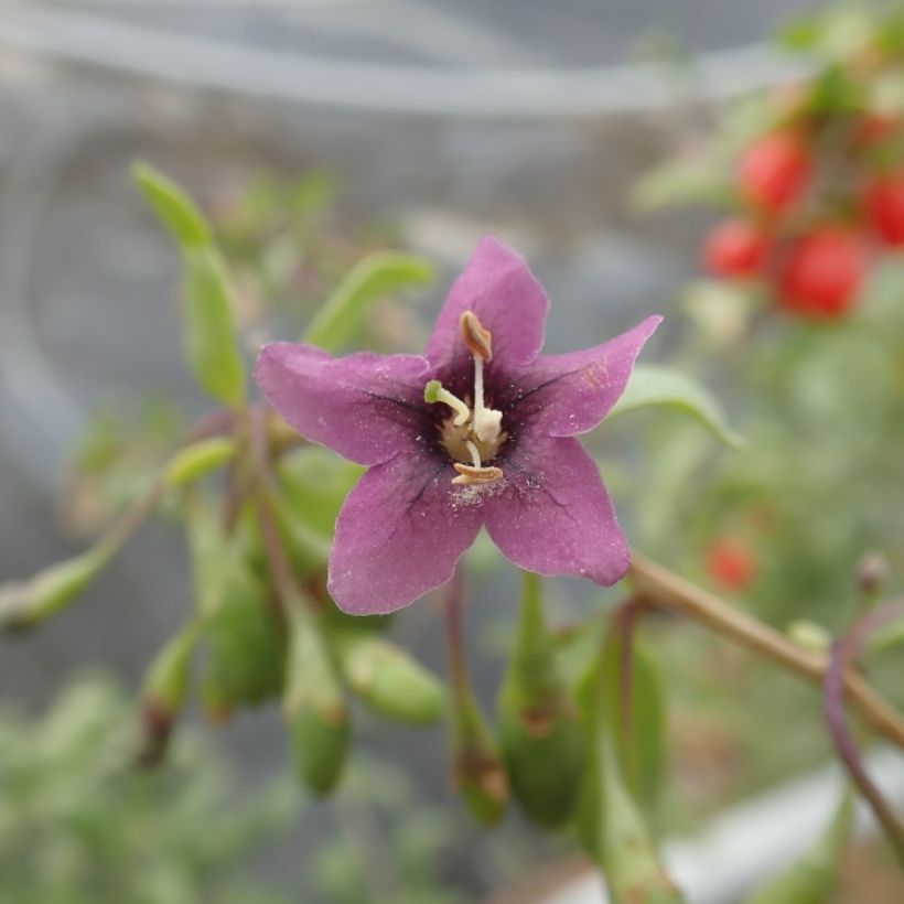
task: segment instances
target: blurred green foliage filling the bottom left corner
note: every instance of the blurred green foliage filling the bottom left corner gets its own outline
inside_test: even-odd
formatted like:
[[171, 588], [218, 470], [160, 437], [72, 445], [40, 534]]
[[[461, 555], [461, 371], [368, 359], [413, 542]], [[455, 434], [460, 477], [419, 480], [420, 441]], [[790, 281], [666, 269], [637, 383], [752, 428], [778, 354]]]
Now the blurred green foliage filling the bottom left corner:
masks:
[[164, 773], [136, 770], [132, 701], [73, 680], [40, 720], [0, 710], [0, 898], [15, 904], [281, 904], [249, 858], [295, 818], [288, 779], [236, 794], [222, 754], [185, 732]]

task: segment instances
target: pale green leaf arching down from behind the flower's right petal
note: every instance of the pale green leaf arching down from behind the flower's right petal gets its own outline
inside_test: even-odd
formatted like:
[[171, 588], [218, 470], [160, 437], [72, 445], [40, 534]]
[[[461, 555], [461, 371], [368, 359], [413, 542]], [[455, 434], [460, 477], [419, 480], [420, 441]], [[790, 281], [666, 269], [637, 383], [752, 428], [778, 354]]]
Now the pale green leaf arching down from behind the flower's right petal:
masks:
[[709, 390], [680, 370], [658, 364], [638, 364], [609, 417], [649, 405], [666, 405], [685, 411], [733, 449], [745, 445], [744, 439], [725, 422], [719, 402]]

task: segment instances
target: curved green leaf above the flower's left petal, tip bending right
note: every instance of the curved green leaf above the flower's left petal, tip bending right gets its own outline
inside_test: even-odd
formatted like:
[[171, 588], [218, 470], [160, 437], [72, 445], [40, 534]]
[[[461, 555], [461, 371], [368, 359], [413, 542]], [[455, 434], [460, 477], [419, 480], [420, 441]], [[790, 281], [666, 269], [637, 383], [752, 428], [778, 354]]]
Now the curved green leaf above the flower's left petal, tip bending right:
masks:
[[375, 251], [359, 260], [314, 315], [304, 342], [334, 352], [360, 326], [373, 304], [433, 279], [433, 266], [416, 255]]

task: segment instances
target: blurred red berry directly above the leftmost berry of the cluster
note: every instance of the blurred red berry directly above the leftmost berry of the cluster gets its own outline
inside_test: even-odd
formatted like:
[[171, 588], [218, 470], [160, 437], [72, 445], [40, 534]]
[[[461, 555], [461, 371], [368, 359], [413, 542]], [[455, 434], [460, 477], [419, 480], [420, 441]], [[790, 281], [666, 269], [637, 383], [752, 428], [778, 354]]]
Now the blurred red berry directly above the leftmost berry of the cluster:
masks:
[[784, 209], [807, 187], [812, 161], [797, 132], [773, 132], [747, 148], [738, 168], [741, 194], [766, 211]]

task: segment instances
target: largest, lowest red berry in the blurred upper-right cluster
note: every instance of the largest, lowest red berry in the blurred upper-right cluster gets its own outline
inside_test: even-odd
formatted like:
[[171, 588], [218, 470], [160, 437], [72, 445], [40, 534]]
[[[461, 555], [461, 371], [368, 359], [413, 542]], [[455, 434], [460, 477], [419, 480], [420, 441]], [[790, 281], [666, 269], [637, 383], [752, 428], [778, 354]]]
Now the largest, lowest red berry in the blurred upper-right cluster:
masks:
[[867, 248], [853, 233], [821, 226], [788, 249], [778, 278], [784, 308], [812, 318], [844, 314], [867, 273]]

